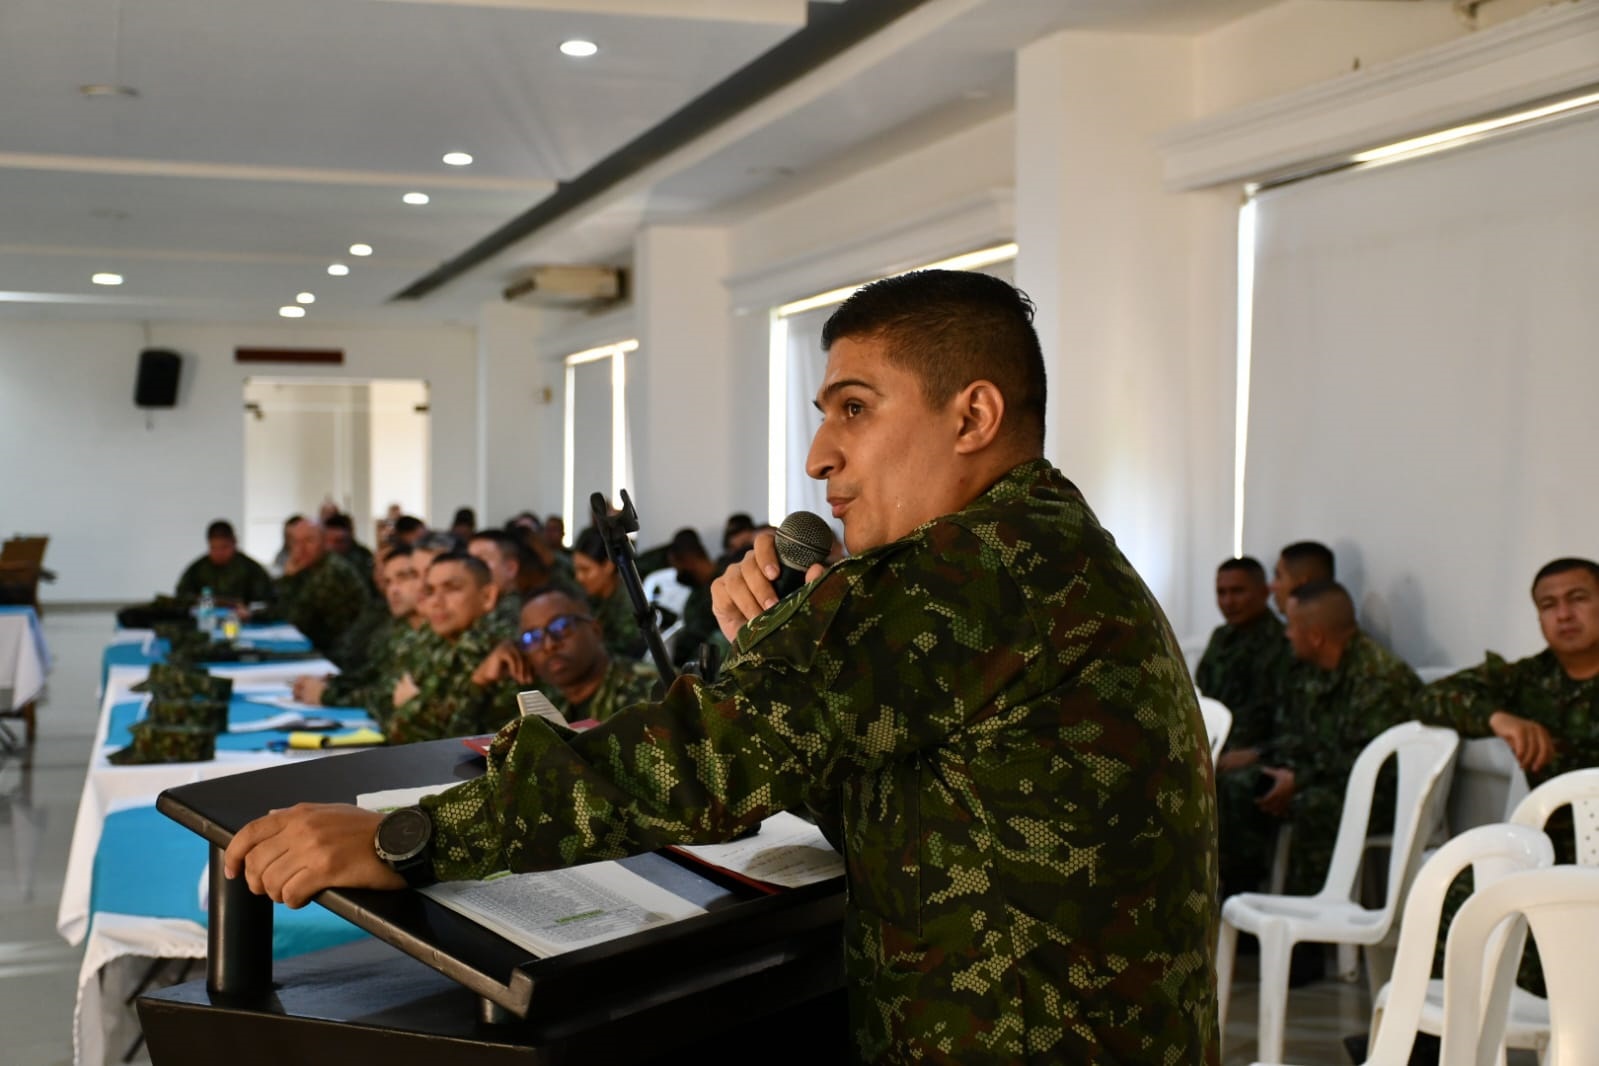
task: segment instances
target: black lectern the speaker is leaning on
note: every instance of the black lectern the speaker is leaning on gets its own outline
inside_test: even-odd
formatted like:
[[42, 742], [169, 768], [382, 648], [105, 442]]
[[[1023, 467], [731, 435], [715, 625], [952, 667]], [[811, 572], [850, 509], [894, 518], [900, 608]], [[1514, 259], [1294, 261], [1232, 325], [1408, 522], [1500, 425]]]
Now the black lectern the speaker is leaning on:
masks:
[[[411, 892], [329, 889], [373, 933], [272, 965], [272, 906], [222, 850], [296, 802], [470, 780], [457, 740], [382, 748], [171, 788], [157, 809], [211, 844], [205, 981], [139, 1000], [155, 1066], [214, 1063], [844, 1061], [843, 879], [763, 893], [670, 852], [622, 860], [705, 914], [537, 959]], [[790, 1058], [792, 1056], [792, 1058]]]

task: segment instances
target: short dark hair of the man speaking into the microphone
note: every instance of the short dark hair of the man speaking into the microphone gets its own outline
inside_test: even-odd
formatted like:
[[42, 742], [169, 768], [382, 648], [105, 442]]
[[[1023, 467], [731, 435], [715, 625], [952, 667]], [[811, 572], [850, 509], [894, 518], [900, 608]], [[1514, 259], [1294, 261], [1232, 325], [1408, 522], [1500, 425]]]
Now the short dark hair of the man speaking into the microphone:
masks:
[[891, 361], [921, 379], [931, 406], [975, 380], [1006, 403], [1006, 424], [1044, 446], [1047, 374], [1033, 329], [1033, 300], [1014, 284], [969, 270], [915, 270], [859, 289], [822, 328], [822, 350], [839, 339], [881, 339]]

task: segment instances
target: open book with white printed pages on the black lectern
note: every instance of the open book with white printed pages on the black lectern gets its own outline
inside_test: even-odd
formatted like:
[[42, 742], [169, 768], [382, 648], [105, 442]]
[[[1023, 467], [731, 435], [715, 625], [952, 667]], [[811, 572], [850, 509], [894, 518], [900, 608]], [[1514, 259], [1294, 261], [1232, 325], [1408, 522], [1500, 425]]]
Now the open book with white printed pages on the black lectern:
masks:
[[[456, 782], [366, 793], [357, 802], [368, 810], [393, 810], [453, 785]], [[768, 892], [844, 873], [843, 857], [822, 831], [787, 812], [763, 821], [752, 837], [672, 850]], [[445, 881], [421, 892], [540, 959], [705, 913], [617, 861], [532, 874], [499, 873], [484, 881]]]

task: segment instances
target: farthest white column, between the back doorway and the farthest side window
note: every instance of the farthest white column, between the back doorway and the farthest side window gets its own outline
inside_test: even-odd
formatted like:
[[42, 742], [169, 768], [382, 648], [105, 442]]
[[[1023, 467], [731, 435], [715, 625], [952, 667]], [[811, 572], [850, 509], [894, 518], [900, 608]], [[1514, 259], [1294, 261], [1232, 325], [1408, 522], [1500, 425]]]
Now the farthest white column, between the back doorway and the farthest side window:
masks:
[[[512, 304], [478, 312], [478, 524], [561, 508], [561, 364], [540, 360], [540, 313]], [[433, 502], [441, 523], [449, 513]], [[454, 505], [451, 505], [454, 507]]]

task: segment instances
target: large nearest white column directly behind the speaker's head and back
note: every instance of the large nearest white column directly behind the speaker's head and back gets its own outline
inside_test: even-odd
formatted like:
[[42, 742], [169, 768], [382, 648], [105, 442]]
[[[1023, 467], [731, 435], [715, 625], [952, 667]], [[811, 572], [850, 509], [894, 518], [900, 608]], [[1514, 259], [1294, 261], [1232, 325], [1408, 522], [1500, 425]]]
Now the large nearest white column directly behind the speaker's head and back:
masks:
[[1063, 32], [1017, 62], [1017, 283], [1039, 308], [1046, 451], [1180, 634], [1214, 623], [1204, 590], [1231, 545], [1236, 205], [1167, 193], [1156, 147], [1193, 117], [1193, 80], [1178, 37]]

